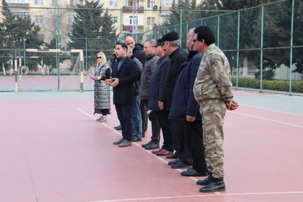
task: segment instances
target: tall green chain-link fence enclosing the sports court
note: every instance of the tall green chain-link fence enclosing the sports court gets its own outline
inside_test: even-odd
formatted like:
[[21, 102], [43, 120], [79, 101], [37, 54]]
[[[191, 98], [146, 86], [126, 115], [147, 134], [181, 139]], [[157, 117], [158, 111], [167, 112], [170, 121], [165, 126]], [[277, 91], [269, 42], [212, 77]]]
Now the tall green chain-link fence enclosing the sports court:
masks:
[[[16, 7], [11, 6], [9, 8], [16, 12]], [[193, 27], [208, 25], [214, 30], [216, 44], [229, 60], [235, 87], [255, 88], [261, 91], [278, 90], [289, 94], [303, 92], [302, 1], [284, 0], [234, 12], [180, 10], [177, 11], [179, 24], [169, 27], [158, 25], [151, 30], [149, 24], [152, 23], [151, 21], [154, 18], [146, 17], [151, 15], [148, 12], [153, 12], [154, 16], [161, 16], [165, 12], [166, 14], [170, 13], [168, 10], [151, 11], [140, 7], [129, 11], [122, 8], [120, 10], [113, 9], [110, 12], [112, 12], [112, 17], [109, 17], [109, 19], [112, 21], [108, 24], [116, 30], [114, 36], [105, 34], [104, 30], [107, 24], [99, 22], [98, 17], [100, 15], [104, 17], [103, 20], [106, 18], [106, 10], [104, 9], [79, 9], [76, 6], [68, 5], [64, 8], [28, 8], [27, 15], [30, 15], [32, 21], [39, 25], [40, 31], [31, 37], [28, 35], [12, 37], [12, 42], [8, 43], [10, 45], [1, 44], [0, 60], [2, 64], [0, 65], [2, 65], [2, 68], [0, 79], [2, 82], [0, 91], [14, 89], [14, 79], [11, 78], [11, 73], [13, 67], [12, 54], [16, 48], [82, 49], [84, 70], [86, 73], [93, 73], [93, 68], [96, 65], [96, 54], [103, 51], [107, 59], [112, 60], [114, 45], [116, 42], [123, 41], [125, 35], [131, 35], [136, 42], [143, 43], [146, 39], [158, 39], [169, 31], [177, 31], [180, 34], [181, 47], [186, 49], [188, 30]], [[184, 22], [186, 16], [197, 16], [198, 12], [203, 12], [203, 16], [207, 17]], [[19, 15], [21, 15], [20, 12]], [[82, 19], [83, 22], [80, 22], [77, 21], [77, 15], [90, 15], [96, 16], [96, 18], [93, 22], [85, 21], [85, 18]], [[139, 17], [135, 18], [139, 15], [146, 17], [147, 24], [140, 22]], [[155, 23], [160, 22], [159, 19], [157, 21], [157, 17], [154, 20]], [[135, 21], [137, 21], [136, 24], [144, 25], [128, 25]], [[100, 26], [104, 28], [103, 31], [96, 29]], [[42, 43], [39, 44], [39, 40]], [[20, 53], [18, 57], [22, 59], [22, 71], [28, 70], [27, 75], [41, 75], [41, 62], [43, 61], [44, 71], [47, 68], [47, 75], [58, 77], [59, 74], [71, 74], [73, 63], [77, 58], [72, 56]], [[60, 71], [57, 71], [58, 69]], [[276, 83], [273, 84], [272, 80]], [[58, 79], [54, 82], [56, 83], [54, 85], [56, 86], [55, 89], [60, 89], [61, 87], [57, 86]], [[87, 83], [85, 84], [85, 90], [91, 90], [92, 86], [87, 85]], [[28, 88], [28, 90], [31, 89]]]

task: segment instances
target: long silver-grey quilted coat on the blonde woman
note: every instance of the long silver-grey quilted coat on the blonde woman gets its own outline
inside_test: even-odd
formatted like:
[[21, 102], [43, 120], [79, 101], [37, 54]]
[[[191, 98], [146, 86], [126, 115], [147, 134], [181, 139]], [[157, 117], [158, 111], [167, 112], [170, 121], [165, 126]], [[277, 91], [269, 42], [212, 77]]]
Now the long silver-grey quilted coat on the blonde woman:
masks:
[[110, 87], [105, 84], [105, 79], [110, 78], [111, 73], [110, 61], [107, 61], [102, 67], [95, 67], [95, 76], [101, 76], [102, 80], [94, 82], [94, 113], [102, 114], [100, 110], [110, 110]]

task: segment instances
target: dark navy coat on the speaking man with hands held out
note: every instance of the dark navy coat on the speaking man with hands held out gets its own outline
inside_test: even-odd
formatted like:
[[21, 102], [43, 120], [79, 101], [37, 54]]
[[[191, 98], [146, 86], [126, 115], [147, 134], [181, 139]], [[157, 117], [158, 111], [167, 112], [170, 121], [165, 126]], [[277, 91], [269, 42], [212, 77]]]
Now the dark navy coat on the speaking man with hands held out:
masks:
[[118, 62], [113, 65], [113, 78], [119, 79], [119, 85], [113, 87], [114, 105], [130, 105], [135, 97], [134, 82], [138, 80], [138, 67], [135, 61], [126, 57], [119, 71]]

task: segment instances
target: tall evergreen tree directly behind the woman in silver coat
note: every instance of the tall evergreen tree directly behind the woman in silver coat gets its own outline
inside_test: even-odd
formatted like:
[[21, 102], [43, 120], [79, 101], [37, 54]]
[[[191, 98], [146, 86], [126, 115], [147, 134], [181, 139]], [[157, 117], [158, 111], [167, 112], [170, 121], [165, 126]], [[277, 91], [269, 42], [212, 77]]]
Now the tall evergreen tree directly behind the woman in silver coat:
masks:
[[[87, 47], [89, 66], [94, 65], [97, 50], [102, 49], [99, 38], [102, 36], [103, 26], [103, 4], [98, 1], [85, 0], [83, 6], [77, 5], [79, 9], [74, 10], [77, 15], [74, 18], [73, 29], [68, 33], [70, 41], [69, 48], [85, 49]], [[72, 62], [73, 63], [73, 62]]]

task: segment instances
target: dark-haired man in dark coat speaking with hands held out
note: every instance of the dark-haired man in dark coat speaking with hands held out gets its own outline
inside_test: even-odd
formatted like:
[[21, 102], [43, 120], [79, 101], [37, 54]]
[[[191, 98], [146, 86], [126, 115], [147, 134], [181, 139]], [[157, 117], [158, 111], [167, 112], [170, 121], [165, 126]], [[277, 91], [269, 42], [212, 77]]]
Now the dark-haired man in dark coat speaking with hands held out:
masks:
[[131, 146], [131, 103], [135, 97], [134, 82], [138, 80], [137, 64], [127, 57], [126, 52], [127, 45], [117, 43], [115, 54], [118, 62], [113, 65], [111, 78], [106, 80], [106, 84], [113, 87], [113, 101], [122, 126], [123, 138], [113, 142], [113, 144], [118, 144], [119, 147]]

